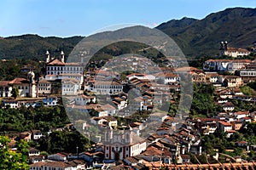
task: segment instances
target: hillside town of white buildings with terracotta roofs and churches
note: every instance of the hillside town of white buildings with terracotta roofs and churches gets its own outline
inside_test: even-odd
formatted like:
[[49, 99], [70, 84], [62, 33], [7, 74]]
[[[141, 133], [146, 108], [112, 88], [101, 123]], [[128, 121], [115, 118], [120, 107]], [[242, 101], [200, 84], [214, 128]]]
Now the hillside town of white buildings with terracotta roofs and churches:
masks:
[[[256, 151], [256, 143], [236, 136], [256, 122], [255, 107], [239, 107], [241, 102], [247, 105], [256, 102], [256, 95], [244, 93], [243, 88], [256, 80], [256, 60], [246, 58], [255, 52], [255, 45], [249, 51], [220, 42], [219, 58], [223, 59], [207, 59], [202, 69], [176, 63], [177, 66], [167, 64], [155, 71], [154, 63], [131, 55], [116, 67], [139, 65], [143, 72], [125, 73], [114, 66], [98, 68], [95, 62], [86, 66], [83, 57], [80, 62], [66, 62], [63, 51], [59, 57], [51, 58], [46, 51], [44, 75], [37, 77], [32, 65], [23, 65], [21, 71], [26, 78], [0, 81], [1, 106], [13, 110], [64, 106], [71, 123], [57, 129], [32, 129], [9, 136], [13, 143], [19, 139], [37, 142], [54, 131], [76, 129], [93, 140], [83, 152], [76, 146], [73, 153], [42, 155], [45, 150], [30, 147], [27, 162], [31, 170], [193, 168], [189, 166], [203, 165], [201, 157], [209, 159], [206, 163], [209, 165], [234, 163], [241, 167], [249, 163], [251, 168], [256, 157], [250, 160], [248, 155]], [[114, 59], [108, 62], [115, 63]], [[210, 105], [218, 109], [194, 116], [184, 111], [186, 107], [178, 105], [181, 96], [185, 96], [184, 82], [190, 82], [194, 91], [195, 86], [211, 87], [214, 98]], [[187, 95], [193, 98], [193, 94]], [[172, 106], [179, 108], [174, 110]], [[213, 135], [233, 141], [233, 146], [224, 148], [225, 151], [236, 153], [239, 148], [242, 154], [224, 154], [221, 145], [207, 153], [207, 138]], [[11, 150], [16, 150], [15, 144]]]

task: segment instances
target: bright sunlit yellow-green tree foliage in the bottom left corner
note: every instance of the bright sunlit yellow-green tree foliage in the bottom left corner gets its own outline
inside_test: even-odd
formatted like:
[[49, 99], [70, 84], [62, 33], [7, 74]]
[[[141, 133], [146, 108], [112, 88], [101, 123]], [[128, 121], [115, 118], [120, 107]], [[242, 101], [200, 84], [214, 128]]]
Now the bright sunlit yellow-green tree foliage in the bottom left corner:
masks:
[[10, 139], [0, 136], [0, 169], [29, 169], [26, 163], [27, 144], [21, 140], [18, 143], [18, 151], [9, 150]]

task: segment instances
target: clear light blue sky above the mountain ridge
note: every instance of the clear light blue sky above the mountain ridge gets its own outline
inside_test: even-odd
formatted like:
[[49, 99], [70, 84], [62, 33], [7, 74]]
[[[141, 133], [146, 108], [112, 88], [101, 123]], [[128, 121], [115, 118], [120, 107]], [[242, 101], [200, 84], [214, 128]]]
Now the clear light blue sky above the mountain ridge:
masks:
[[0, 0], [0, 37], [88, 36], [114, 25], [203, 19], [234, 7], [256, 8], [256, 0]]

